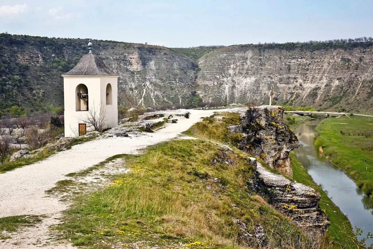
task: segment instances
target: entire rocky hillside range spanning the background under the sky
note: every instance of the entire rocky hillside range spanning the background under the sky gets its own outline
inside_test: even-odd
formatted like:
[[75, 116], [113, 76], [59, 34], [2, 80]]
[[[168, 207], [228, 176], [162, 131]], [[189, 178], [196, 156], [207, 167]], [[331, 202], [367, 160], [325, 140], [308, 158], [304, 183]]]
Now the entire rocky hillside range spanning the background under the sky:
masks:
[[[0, 34], [0, 110], [63, 105], [61, 74], [87, 53], [88, 39]], [[165, 48], [93, 41], [140, 106], [195, 107], [268, 102], [367, 112], [373, 106], [372, 41]], [[200, 106], [206, 103], [200, 103]]]

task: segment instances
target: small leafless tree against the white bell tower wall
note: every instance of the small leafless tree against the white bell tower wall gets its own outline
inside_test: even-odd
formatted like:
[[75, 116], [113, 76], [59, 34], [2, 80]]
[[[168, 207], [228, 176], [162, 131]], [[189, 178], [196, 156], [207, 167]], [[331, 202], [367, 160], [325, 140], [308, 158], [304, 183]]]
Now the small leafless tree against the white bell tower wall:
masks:
[[93, 102], [93, 107], [89, 108], [87, 111], [87, 117], [80, 118], [79, 121], [86, 123], [88, 128], [91, 128], [93, 131], [103, 131], [105, 128], [105, 123], [108, 121], [107, 112], [101, 101], [100, 107], [95, 106]]

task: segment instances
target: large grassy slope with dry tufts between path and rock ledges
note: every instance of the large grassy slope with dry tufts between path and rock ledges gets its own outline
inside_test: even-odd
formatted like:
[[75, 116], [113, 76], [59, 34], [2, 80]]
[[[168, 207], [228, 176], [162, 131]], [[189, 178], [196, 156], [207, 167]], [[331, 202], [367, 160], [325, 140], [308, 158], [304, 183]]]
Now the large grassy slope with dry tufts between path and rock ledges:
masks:
[[[227, 165], [227, 159], [234, 163]], [[263, 225], [272, 247], [310, 248], [289, 218], [247, 189], [254, 168], [242, 154], [222, 152], [205, 140], [176, 140], [126, 155], [125, 162], [128, 174], [79, 196], [65, 212], [56, 229], [73, 245], [133, 247], [141, 241], [145, 248], [172, 248], [179, 242], [200, 243], [195, 248], [247, 247], [235, 218], [251, 234], [254, 224]], [[249, 243], [258, 247], [256, 240]]]

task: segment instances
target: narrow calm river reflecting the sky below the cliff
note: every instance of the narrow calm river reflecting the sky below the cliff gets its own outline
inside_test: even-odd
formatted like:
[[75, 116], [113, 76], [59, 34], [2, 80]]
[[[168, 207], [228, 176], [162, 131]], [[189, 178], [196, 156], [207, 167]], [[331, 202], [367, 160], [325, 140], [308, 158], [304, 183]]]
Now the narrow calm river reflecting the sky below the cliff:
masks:
[[[362, 236], [368, 232], [373, 233], [373, 199], [364, 196], [355, 182], [325, 156], [320, 155], [313, 145], [314, 129], [321, 121], [322, 119], [313, 119], [295, 129], [294, 133], [301, 143], [301, 146], [295, 149], [297, 158], [313, 180], [322, 184], [330, 199], [347, 215], [352, 227], [363, 228]], [[373, 239], [366, 243], [370, 245]]]

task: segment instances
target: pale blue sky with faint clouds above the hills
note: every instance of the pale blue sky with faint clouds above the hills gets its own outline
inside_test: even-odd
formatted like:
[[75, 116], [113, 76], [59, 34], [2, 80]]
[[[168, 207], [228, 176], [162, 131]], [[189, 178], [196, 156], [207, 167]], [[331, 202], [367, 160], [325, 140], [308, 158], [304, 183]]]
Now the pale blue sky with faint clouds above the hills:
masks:
[[166, 47], [373, 36], [373, 0], [0, 0], [0, 33]]

